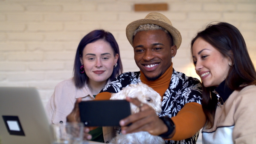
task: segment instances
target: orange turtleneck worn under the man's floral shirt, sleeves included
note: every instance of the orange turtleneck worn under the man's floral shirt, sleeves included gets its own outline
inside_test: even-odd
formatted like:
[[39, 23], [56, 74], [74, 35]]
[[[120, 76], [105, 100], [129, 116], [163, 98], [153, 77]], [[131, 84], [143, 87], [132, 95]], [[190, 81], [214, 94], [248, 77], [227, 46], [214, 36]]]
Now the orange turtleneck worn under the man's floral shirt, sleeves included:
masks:
[[[156, 81], [148, 81], [143, 72], [140, 71], [140, 79], [158, 92], [163, 99], [163, 95], [168, 89], [172, 78], [172, 70], [171, 65]], [[110, 92], [101, 92], [96, 95], [95, 100], [109, 100], [110, 98]], [[185, 104], [175, 117], [172, 117], [172, 121], [175, 124], [175, 134], [169, 140], [180, 141], [195, 135], [204, 126], [206, 117], [201, 104], [190, 102]]]

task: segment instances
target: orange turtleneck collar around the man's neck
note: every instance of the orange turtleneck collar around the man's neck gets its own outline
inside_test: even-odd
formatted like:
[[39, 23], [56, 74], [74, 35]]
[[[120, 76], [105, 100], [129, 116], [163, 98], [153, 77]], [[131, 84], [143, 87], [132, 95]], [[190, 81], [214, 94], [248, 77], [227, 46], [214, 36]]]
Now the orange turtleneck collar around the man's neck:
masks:
[[163, 75], [160, 76], [160, 78], [158, 78], [155, 81], [148, 81], [147, 78], [145, 77], [144, 73], [142, 71], [140, 71], [140, 80], [147, 84], [147, 85], [160, 85], [160, 84], [164, 84], [166, 82], [170, 82], [171, 78], [172, 78], [172, 65], [166, 70], [166, 72], [164, 72]]

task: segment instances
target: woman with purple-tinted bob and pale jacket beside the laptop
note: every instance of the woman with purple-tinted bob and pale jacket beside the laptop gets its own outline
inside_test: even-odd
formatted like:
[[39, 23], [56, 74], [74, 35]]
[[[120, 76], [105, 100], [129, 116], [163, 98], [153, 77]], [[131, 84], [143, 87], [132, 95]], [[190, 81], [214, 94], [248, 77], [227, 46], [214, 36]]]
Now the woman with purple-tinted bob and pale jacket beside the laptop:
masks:
[[[113, 78], [122, 73], [120, 52], [115, 38], [102, 29], [85, 35], [76, 50], [73, 78], [55, 87], [47, 103], [51, 123], [65, 123], [77, 99], [90, 101]], [[92, 141], [104, 142], [102, 127], [90, 131]]]

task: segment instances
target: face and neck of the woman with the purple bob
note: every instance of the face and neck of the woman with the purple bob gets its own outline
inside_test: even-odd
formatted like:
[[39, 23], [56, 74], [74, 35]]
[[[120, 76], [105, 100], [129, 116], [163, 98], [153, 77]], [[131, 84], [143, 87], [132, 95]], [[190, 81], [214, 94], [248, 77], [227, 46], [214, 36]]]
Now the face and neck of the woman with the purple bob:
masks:
[[[118, 57], [119, 55], [115, 54], [111, 45], [105, 40], [97, 40], [85, 46], [80, 61], [84, 65], [84, 71], [88, 77], [87, 84], [93, 95], [97, 95], [105, 86], [113, 73]], [[96, 86], [99, 86], [99, 89]]]

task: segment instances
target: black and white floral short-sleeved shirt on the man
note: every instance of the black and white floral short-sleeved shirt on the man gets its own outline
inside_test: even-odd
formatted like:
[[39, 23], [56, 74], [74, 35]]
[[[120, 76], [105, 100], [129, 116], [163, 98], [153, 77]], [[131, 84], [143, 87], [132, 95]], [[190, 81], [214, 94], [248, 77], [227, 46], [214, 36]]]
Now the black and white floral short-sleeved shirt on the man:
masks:
[[[113, 79], [101, 92], [116, 93], [129, 84], [139, 82], [141, 82], [140, 72], [126, 72]], [[188, 77], [173, 69], [169, 88], [163, 95], [162, 112], [159, 117], [168, 115], [171, 118], [176, 116], [180, 109], [189, 102], [201, 104], [201, 95], [201, 83], [197, 78]], [[182, 141], [166, 141], [166, 144], [195, 144], [198, 135], [199, 131], [192, 138]]]

